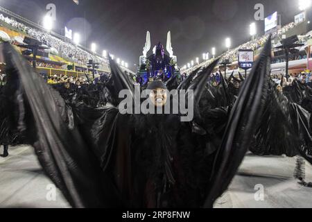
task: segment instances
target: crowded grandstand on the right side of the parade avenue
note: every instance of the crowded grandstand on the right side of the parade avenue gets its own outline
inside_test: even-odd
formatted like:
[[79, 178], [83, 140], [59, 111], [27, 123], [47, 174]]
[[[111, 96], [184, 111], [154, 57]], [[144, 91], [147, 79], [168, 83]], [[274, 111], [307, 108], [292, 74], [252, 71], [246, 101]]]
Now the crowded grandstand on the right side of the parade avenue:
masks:
[[[281, 28], [276, 28], [270, 33], [266, 33], [261, 37], [254, 38], [250, 42], [246, 42], [245, 44], [241, 44], [234, 49], [229, 49], [218, 58], [223, 62], [227, 60], [227, 70], [226, 74], [229, 76], [234, 71], [235, 76], [239, 74], [239, 72], [243, 72], [239, 68], [239, 50], [241, 49], [251, 49], [254, 51], [254, 60], [257, 59], [261, 49], [263, 49], [263, 45], [265, 44], [268, 37], [272, 35], [272, 65], [271, 72], [272, 74], [285, 75], [286, 71], [286, 56], [283, 49], [279, 49], [278, 46], [281, 45], [281, 40], [284, 40], [293, 35], [297, 35], [299, 41], [297, 43], [302, 44], [302, 46], [298, 46], [295, 48], [295, 51], [291, 51], [291, 55], [289, 56], [289, 70], [288, 74], [297, 76], [298, 74], [310, 73], [309, 69], [312, 69], [312, 58], [311, 58], [311, 44], [312, 44], [312, 31], [308, 31], [309, 21], [302, 22], [291, 22], [282, 26]], [[209, 58], [208, 60], [203, 60], [202, 62], [197, 62], [196, 64], [184, 65], [182, 67], [182, 71], [186, 74], [189, 74], [191, 71], [197, 69], [198, 67], [207, 67], [214, 58]], [[219, 65], [214, 70], [215, 72], [220, 71], [225, 73], [225, 68], [223, 65]], [[249, 70], [250, 71], [250, 70]], [[248, 73], [249, 73], [248, 71]]]

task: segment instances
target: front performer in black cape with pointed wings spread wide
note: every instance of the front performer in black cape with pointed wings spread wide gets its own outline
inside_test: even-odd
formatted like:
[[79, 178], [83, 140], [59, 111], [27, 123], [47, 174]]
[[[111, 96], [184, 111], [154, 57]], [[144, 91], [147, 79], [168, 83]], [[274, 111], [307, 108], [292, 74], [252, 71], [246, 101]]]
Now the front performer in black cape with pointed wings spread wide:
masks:
[[[218, 60], [177, 87], [193, 90], [194, 118], [189, 122], [180, 121], [182, 114], [121, 114], [119, 92], [128, 89], [133, 95], [135, 89], [112, 60], [107, 83], [112, 106], [91, 108], [65, 103], [10, 44], [3, 53], [10, 124], [31, 139], [44, 171], [73, 207], [212, 207], [252, 146], [254, 126], [266, 124], [261, 117], [268, 96], [270, 40], [235, 103], [227, 92], [223, 107], [201, 103]], [[162, 83], [149, 87], [156, 94], [157, 89], [164, 92]], [[165, 96], [161, 98], [156, 103], [164, 103]], [[308, 116], [295, 112], [288, 101], [280, 103], [288, 107], [284, 115], [302, 117], [288, 127], [300, 138], [299, 152], [312, 162], [310, 133], [302, 130]]]

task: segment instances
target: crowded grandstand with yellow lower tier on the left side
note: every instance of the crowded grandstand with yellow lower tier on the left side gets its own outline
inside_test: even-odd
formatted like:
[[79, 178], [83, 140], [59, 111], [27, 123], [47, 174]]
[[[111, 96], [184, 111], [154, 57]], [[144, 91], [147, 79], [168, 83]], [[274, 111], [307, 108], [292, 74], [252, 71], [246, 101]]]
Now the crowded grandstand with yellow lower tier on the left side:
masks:
[[[24, 38], [30, 37], [42, 43], [45, 49], [36, 57], [36, 69], [43, 76], [76, 76], [85, 78], [86, 74], [92, 77], [110, 73], [107, 56], [100, 56], [89, 51], [80, 44], [58, 35], [53, 31], [46, 31], [43, 26], [35, 24], [20, 15], [0, 7], [0, 40], [11, 42], [29, 62], [32, 62], [32, 52], [25, 49]], [[88, 65], [92, 60], [96, 69]], [[3, 62], [3, 58], [0, 58]], [[132, 73], [125, 65], [121, 64], [123, 71]]]

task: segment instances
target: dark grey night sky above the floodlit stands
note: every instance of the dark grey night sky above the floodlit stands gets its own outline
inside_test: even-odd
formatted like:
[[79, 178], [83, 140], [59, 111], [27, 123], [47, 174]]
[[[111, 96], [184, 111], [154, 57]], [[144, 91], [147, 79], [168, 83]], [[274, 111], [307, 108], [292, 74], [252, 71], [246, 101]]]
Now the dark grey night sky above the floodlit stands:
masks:
[[[85, 33], [87, 46], [98, 45], [98, 53], [107, 49], [128, 62], [131, 69], [138, 62], [150, 31], [152, 48], [161, 41], [166, 46], [170, 30], [175, 55], [180, 66], [216, 46], [217, 54], [225, 51], [226, 37], [236, 46], [248, 41], [249, 25], [254, 22], [254, 5], [263, 3], [265, 16], [278, 11], [282, 24], [293, 22], [300, 11], [296, 0], [0, 0], [0, 5], [33, 22], [40, 22], [47, 3], [55, 3], [55, 31], [68, 26], [73, 32]], [[263, 34], [264, 22], [257, 22]], [[83, 36], [82, 36], [83, 38]], [[82, 41], [82, 44], [84, 41]]]

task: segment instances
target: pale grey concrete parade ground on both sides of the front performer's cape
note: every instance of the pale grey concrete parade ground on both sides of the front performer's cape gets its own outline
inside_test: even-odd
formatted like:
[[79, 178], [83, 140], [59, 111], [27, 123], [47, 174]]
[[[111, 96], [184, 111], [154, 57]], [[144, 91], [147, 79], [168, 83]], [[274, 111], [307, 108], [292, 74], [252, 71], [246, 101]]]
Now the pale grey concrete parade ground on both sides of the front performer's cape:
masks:
[[[2, 149], [1, 149], [2, 152]], [[70, 207], [47, 178], [31, 146], [13, 146], [0, 158], [0, 207]], [[295, 157], [261, 157], [248, 153], [216, 208], [311, 208], [312, 188], [293, 178]], [[312, 167], [306, 162], [306, 180]]]

